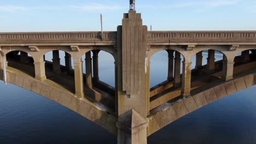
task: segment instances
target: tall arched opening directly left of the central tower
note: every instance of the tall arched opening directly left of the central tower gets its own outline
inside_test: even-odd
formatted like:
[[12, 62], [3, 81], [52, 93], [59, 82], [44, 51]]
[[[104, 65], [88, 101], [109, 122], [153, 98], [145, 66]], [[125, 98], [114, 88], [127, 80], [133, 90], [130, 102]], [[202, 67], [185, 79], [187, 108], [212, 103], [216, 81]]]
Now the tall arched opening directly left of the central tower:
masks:
[[82, 56], [84, 91], [103, 105], [115, 110], [115, 60], [103, 50], [91, 50]]

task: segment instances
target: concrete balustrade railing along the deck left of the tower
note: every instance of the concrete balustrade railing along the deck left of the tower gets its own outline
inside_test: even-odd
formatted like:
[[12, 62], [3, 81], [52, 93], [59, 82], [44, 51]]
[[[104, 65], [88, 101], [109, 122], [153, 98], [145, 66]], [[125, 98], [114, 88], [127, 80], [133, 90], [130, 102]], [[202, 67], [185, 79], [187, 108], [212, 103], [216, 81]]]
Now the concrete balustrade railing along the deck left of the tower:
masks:
[[0, 33], [0, 44], [116, 43], [117, 32]]

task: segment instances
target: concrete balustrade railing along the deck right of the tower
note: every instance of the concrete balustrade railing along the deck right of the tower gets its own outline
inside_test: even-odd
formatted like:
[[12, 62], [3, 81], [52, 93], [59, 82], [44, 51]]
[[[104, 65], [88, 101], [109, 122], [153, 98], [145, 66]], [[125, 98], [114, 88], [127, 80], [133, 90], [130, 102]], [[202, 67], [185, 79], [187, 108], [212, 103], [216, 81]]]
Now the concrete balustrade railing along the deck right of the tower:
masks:
[[255, 43], [256, 31], [152, 31], [149, 43]]

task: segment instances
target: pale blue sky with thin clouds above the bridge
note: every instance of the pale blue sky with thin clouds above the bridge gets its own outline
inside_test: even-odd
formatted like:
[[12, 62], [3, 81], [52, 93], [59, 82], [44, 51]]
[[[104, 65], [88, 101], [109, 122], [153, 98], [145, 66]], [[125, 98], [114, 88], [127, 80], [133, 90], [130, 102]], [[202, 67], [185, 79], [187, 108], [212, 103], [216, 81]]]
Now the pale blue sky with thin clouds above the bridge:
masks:
[[[1, 0], [0, 32], [116, 31], [128, 0]], [[255, 0], [136, 0], [153, 31], [256, 30]]]

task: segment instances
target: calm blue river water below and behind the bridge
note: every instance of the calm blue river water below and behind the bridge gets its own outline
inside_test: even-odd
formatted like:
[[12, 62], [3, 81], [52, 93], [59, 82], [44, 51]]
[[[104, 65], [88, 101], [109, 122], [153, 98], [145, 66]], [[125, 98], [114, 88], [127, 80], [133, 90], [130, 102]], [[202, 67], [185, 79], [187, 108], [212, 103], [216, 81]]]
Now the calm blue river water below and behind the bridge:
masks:
[[[114, 86], [114, 59], [106, 52], [99, 55], [100, 79]], [[51, 59], [50, 53], [46, 59]], [[63, 64], [63, 53], [61, 59]], [[217, 53], [219, 59], [222, 55]], [[154, 86], [166, 80], [167, 53], [156, 53], [151, 64]], [[117, 143], [108, 131], [38, 94], [2, 81], [0, 92], [1, 144]], [[149, 136], [148, 143], [256, 143], [255, 111], [256, 87], [252, 87], [178, 119]]]

